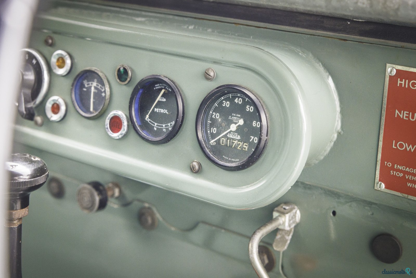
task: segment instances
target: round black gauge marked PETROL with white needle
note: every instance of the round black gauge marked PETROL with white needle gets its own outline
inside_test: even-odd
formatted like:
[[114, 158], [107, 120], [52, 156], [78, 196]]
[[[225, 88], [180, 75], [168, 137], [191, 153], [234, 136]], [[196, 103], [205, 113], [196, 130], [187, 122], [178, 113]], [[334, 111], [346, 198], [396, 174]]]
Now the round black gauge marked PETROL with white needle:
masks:
[[171, 140], [183, 121], [183, 99], [178, 86], [162, 75], [150, 75], [137, 83], [130, 98], [134, 130], [151, 143]]

